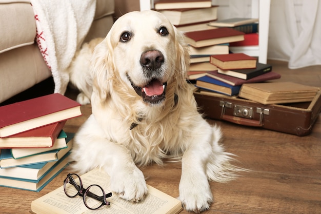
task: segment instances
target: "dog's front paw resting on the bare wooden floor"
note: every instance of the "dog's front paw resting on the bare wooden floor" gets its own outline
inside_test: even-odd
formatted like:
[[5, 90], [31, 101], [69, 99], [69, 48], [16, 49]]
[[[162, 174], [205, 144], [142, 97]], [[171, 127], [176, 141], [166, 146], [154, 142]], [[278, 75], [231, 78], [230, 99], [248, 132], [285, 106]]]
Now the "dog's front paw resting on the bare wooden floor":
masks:
[[199, 213], [210, 208], [213, 196], [208, 181], [179, 183], [179, 200], [187, 211]]

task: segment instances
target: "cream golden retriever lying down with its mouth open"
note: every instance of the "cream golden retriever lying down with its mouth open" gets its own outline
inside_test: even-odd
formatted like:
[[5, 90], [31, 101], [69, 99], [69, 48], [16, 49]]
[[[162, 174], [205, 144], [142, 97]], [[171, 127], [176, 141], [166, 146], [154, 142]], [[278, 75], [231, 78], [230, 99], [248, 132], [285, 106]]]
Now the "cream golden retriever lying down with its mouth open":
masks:
[[220, 129], [197, 111], [186, 82], [188, 65], [184, 36], [164, 15], [136, 11], [119, 17], [94, 50], [92, 115], [75, 135], [73, 168], [106, 170], [112, 191], [138, 202], [147, 193], [138, 167], [178, 159], [185, 209], [209, 209], [208, 180], [234, 179], [237, 168], [220, 145]]

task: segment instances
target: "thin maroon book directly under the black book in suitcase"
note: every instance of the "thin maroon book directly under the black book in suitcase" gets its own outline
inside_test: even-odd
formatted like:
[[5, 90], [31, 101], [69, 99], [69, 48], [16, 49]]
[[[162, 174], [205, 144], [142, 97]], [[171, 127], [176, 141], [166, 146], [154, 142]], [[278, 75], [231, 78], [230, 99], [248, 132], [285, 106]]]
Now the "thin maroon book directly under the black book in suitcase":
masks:
[[276, 80], [281, 77], [281, 75], [279, 73], [275, 73], [273, 71], [264, 73], [259, 76], [255, 76], [249, 80], [243, 80], [243, 79], [239, 79], [234, 76], [221, 74], [221, 73], [218, 73], [218, 71], [208, 71], [208, 72], [204, 73], [204, 75], [210, 76], [213, 79], [222, 81], [222, 82], [227, 83], [232, 86], [242, 85], [245, 83], [261, 83], [261, 82], [265, 82], [268, 80]]

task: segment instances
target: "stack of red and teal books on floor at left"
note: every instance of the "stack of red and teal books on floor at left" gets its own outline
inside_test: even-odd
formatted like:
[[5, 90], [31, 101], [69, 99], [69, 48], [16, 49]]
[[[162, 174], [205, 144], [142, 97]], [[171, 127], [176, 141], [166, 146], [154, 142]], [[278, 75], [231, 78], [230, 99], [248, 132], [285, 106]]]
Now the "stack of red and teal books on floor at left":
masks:
[[80, 104], [54, 93], [0, 107], [0, 186], [40, 191], [68, 164]]

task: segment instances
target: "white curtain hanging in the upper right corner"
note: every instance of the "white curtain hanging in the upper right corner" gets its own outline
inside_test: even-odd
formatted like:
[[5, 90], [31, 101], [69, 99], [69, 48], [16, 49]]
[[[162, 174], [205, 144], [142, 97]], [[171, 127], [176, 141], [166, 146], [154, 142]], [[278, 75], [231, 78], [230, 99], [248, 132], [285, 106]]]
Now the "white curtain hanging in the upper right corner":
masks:
[[292, 69], [321, 65], [319, 0], [271, 1], [268, 58], [289, 61]]

